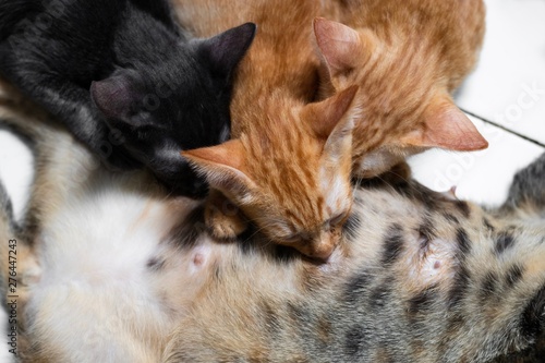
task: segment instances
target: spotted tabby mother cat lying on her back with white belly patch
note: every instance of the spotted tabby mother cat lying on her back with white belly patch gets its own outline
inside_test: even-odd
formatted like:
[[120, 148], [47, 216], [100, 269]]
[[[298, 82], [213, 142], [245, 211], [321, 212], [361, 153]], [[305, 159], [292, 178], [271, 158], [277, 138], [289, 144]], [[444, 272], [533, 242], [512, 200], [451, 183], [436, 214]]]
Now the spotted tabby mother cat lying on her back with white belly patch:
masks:
[[0, 120], [38, 158], [23, 223], [0, 193], [21, 362], [540, 362], [545, 156], [497, 210], [415, 182], [362, 184], [317, 265], [262, 234], [217, 243], [196, 202], [93, 167], [29, 104]]

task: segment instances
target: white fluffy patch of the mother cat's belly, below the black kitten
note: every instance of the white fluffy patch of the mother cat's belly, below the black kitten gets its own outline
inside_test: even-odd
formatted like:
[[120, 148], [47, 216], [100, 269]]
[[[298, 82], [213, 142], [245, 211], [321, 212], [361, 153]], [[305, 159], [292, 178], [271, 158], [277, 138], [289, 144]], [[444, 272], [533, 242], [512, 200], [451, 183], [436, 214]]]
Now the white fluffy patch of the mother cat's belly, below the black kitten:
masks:
[[206, 280], [206, 238], [189, 252], [170, 242], [195, 202], [142, 193], [131, 179], [98, 169], [44, 203], [24, 314], [45, 361], [159, 362]]

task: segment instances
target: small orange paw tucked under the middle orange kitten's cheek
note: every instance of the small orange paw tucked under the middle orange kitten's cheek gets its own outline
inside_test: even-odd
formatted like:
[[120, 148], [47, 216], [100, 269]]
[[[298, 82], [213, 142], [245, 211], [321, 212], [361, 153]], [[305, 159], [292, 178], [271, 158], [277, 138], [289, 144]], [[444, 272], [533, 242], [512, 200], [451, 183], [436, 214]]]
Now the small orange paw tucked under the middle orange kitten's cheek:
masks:
[[239, 207], [217, 190], [211, 190], [208, 195], [205, 221], [209, 233], [220, 240], [233, 240], [247, 229]]

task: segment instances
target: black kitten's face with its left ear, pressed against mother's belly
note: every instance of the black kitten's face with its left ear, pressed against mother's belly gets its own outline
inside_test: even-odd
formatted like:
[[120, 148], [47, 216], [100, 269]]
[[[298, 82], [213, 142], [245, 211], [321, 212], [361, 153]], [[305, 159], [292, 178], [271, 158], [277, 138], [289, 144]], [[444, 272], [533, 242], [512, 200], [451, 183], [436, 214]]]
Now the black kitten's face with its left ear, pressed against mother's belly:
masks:
[[118, 71], [94, 83], [92, 93], [134, 158], [177, 193], [202, 197], [207, 185], [180, 152], [228, 140], [230, 86], [218, 85], [196, 61], [178, 59]]

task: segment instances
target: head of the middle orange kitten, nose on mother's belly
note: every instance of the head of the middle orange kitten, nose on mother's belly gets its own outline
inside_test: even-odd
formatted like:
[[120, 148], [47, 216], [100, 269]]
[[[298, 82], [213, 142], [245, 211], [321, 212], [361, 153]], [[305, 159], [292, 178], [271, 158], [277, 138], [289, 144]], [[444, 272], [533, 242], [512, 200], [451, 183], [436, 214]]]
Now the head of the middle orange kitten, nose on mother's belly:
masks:
[[271, 95], [259, 116], [270, 128], [182, 155], [272, 241], [327, 258], [352, 206], [355, 93], [304, 107]]

